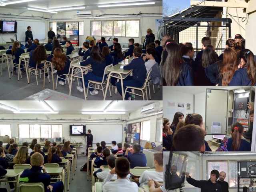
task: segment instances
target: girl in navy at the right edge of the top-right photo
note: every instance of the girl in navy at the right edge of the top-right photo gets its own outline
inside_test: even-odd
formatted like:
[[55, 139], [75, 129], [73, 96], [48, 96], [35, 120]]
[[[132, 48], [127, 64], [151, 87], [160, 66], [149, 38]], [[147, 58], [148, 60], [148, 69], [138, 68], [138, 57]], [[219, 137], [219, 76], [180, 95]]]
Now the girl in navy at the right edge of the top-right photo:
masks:
[[229, 86], [255, 86], [256, 64], [254, 54], [249, 49], [243, 49], [239, 54], [240, 69], [238, 69], [230, 81]]

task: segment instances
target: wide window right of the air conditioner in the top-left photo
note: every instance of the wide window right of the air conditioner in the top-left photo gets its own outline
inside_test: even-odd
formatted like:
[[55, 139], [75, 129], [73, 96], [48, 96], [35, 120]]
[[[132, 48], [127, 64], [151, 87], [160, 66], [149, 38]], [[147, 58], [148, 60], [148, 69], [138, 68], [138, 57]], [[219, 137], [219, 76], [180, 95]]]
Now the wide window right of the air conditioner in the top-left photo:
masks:
[[92, 36], [139, 37], [140, 20], [91, 21]]

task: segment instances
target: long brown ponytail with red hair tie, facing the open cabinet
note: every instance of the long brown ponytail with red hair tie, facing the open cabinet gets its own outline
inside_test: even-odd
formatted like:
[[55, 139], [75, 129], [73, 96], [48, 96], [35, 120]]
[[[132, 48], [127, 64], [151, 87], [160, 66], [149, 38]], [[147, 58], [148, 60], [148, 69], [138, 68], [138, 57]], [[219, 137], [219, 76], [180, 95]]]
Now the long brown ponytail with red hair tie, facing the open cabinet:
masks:
[[231, 132], [232, 132], [232, 144], [231, 149], [232, 151], [238, 151], [241, 144], [241, 135], [243, 133], [243, 126], [242, 124], [236, 122], [231, 125]]

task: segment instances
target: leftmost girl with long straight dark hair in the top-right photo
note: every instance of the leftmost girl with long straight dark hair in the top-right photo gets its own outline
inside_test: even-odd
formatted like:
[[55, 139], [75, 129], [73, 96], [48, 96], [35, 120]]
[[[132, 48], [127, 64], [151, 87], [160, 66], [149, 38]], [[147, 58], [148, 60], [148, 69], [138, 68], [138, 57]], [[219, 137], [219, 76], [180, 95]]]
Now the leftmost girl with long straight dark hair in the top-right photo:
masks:
[[163, 52], [163, 85], [194, 85], [192, 69], [184, 63], [180, 46], [170, 41], [173, 40], [166, 40]]

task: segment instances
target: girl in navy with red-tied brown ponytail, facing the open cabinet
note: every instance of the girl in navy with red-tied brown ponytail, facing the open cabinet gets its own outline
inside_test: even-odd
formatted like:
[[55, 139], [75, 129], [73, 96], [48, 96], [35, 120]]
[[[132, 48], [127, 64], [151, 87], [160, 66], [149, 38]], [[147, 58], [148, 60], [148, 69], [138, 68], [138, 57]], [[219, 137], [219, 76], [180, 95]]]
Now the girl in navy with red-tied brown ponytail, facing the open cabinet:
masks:
[[228, 151], [251, 151], [251, 144], [242, 139], [244, 128], [242, 124], [236, 122], [231, 125], [232, 138], [228, 138]]

